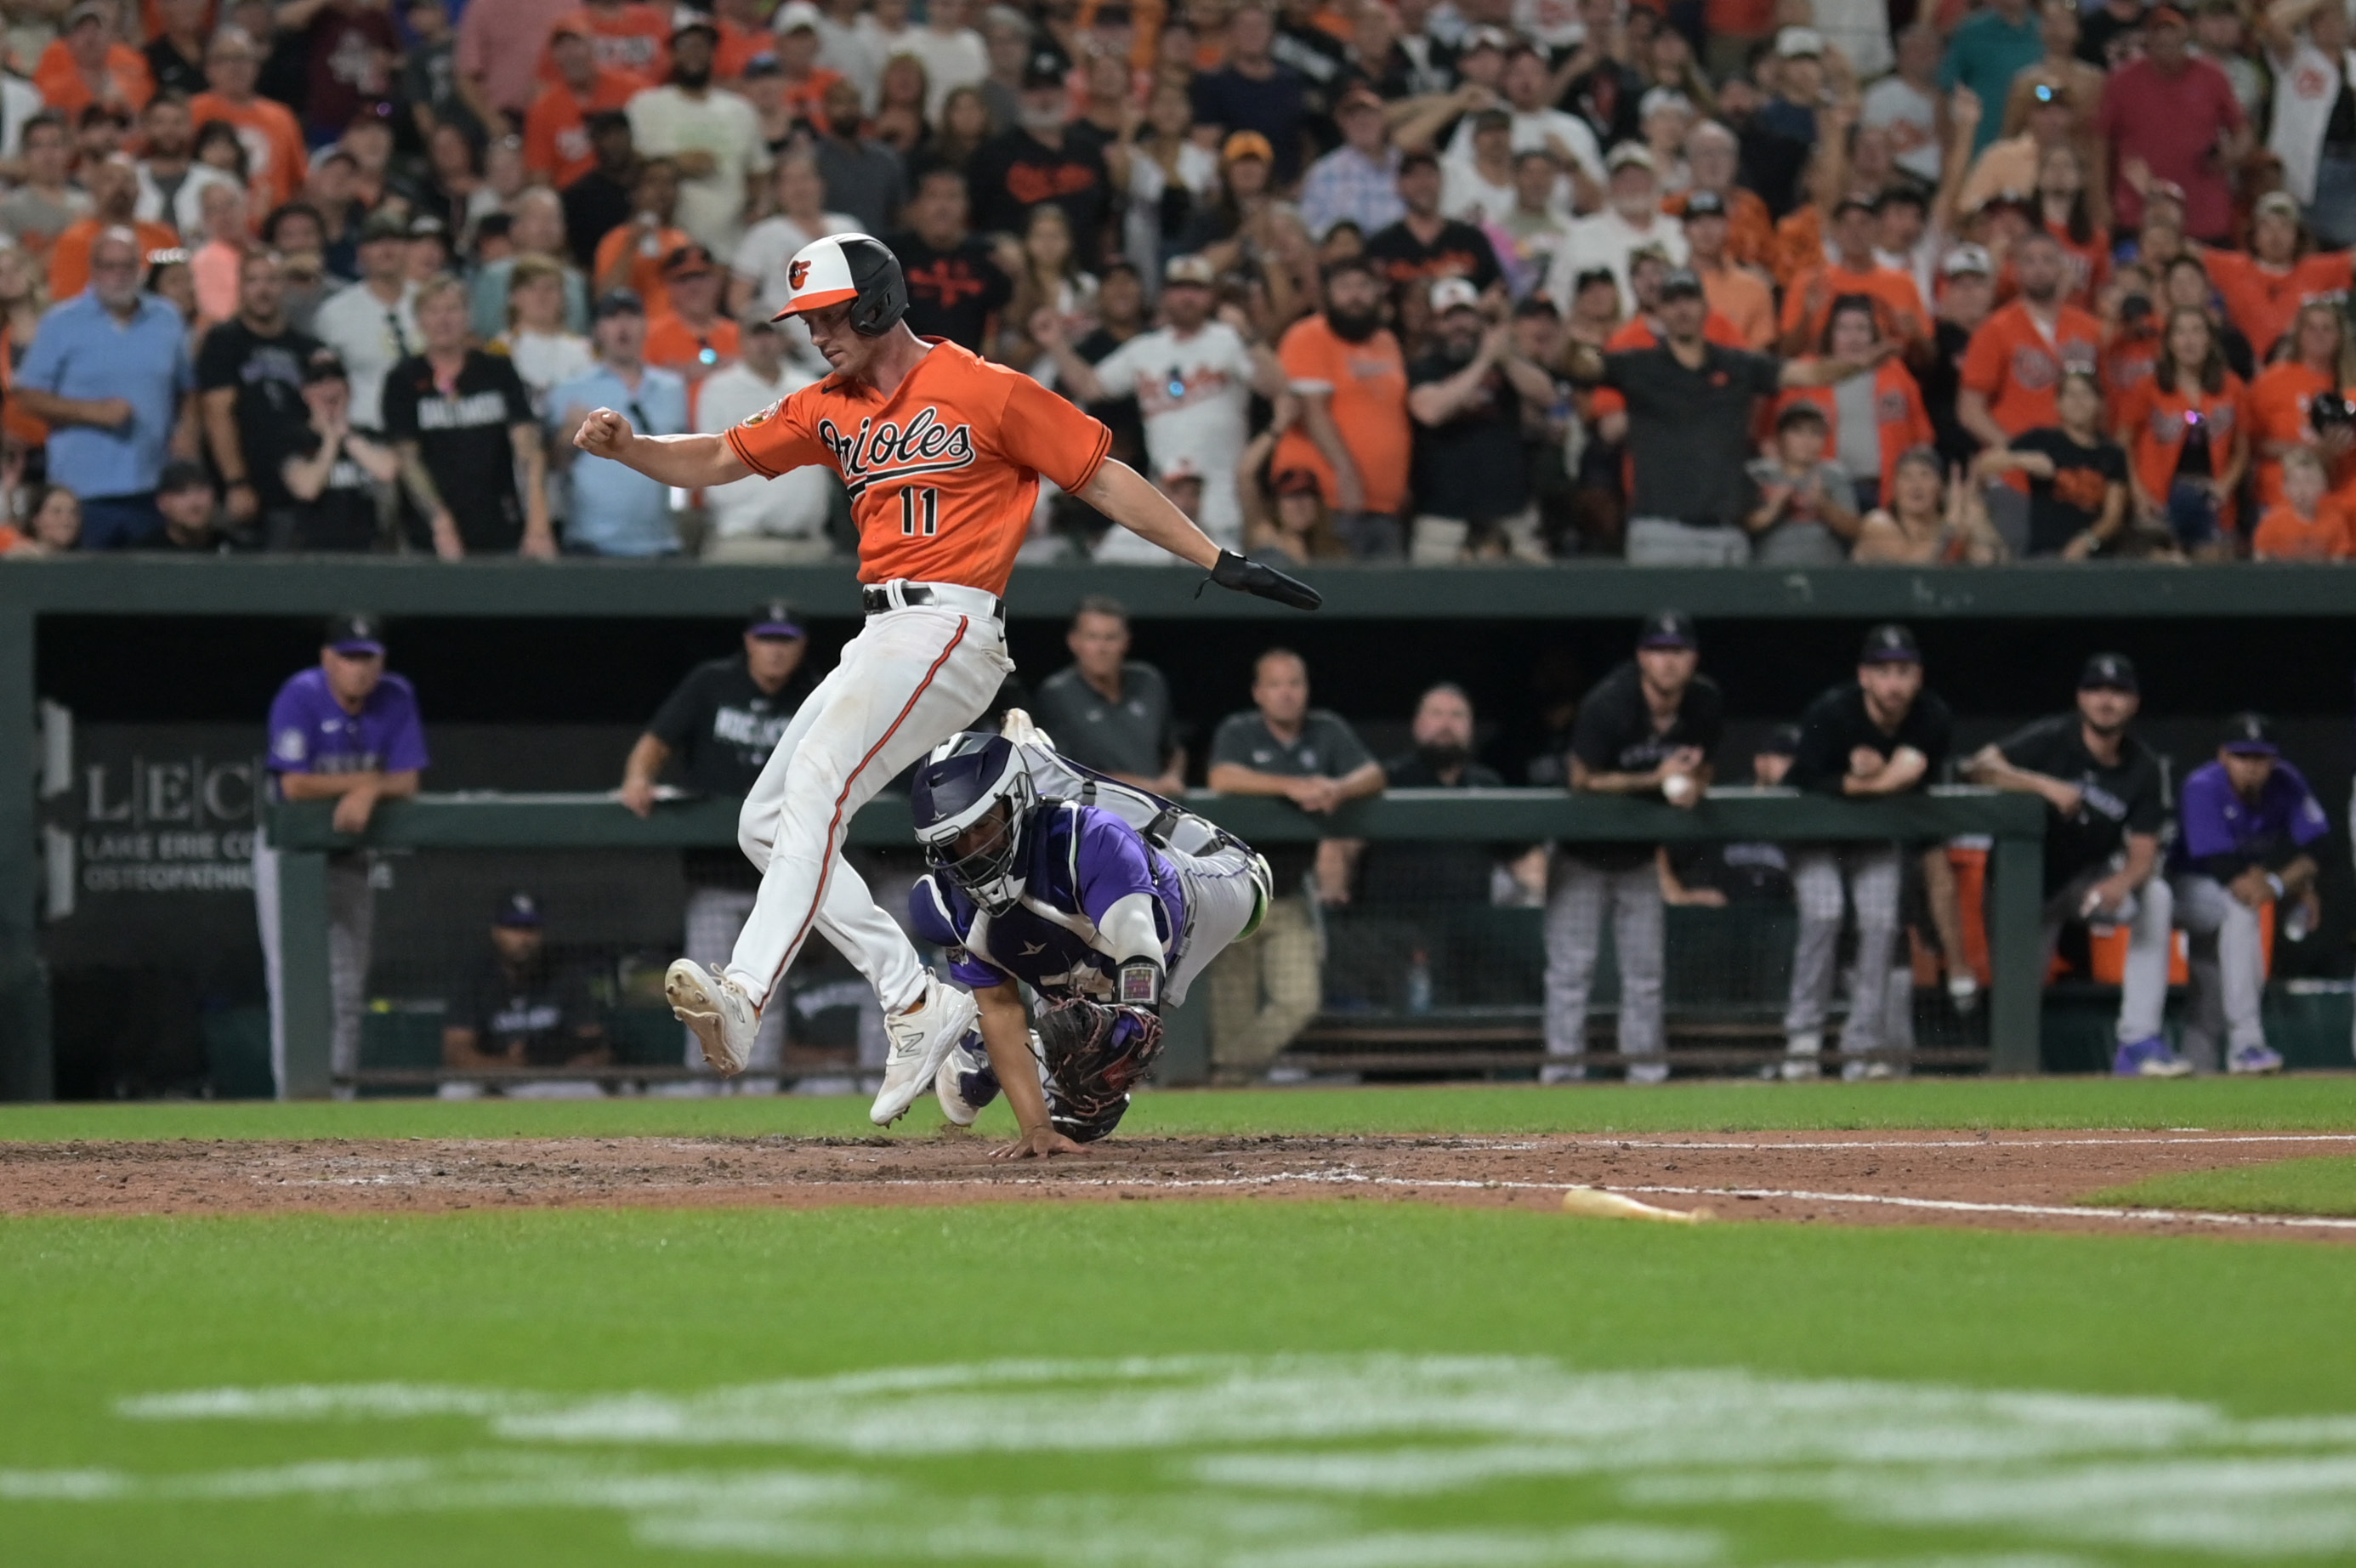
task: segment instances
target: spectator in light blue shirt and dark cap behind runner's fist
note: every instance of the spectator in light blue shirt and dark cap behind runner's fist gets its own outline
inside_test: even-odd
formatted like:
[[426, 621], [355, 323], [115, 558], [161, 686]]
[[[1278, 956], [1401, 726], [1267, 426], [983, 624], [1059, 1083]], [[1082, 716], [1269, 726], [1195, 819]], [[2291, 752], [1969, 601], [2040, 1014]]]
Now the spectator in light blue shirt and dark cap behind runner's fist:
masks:
[[646, 363], [646, 304], [627, 288], [596, 302], [596, 368], [549, 394], [554, 450], [568, 460], [573, 500], [565, 509], [565, 552], [596, 556], [662, 556], [679, 549], [671, 490], [610, 457], [589, 457], [573, 431], [591, 408], [617, 408], [636, 431], [679, 436], [688, 429], [688, 384]]

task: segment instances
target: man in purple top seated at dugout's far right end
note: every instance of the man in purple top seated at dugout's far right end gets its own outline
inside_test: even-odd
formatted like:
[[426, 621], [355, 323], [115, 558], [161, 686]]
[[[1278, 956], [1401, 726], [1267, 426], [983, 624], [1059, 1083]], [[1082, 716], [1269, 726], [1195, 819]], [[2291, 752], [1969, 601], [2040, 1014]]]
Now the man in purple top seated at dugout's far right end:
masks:
[[2177, 802], [2170, 887], [2177, 924], [2191, 934], [2191, 1019], [2184, 1056], [2217, 1066], [2217, 1026], [2226, 1033], [2226, 1068], [2278, 1073], [2259, 1019], [2264, 953], [2257, 910], [2274, 905], [2292, 929], [2316, 922], [2316, 858], [2309, 846], [2330, 832], [2323, 804], [2299, 769], [2283, 762], [2271, 726], [2255, 712], [2226, 719], [2217, 762], [2184, 780]]

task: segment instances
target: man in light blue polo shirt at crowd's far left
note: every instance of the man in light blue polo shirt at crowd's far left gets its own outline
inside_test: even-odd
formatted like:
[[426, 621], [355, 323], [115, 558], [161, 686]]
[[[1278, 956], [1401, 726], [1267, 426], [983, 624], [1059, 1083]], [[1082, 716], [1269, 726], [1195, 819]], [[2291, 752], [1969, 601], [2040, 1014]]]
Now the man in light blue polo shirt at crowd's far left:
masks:
[[82, 549], [123, 549], [163, 533], [155, 481], [167, 457], [196, 457], [188, 328], [139, 292], [139, 238], [108, 229], [90, 245], [90, 288], [40, 318], [16, 370], [16, 403], [49, 427], [49, 481], [82, 502]]

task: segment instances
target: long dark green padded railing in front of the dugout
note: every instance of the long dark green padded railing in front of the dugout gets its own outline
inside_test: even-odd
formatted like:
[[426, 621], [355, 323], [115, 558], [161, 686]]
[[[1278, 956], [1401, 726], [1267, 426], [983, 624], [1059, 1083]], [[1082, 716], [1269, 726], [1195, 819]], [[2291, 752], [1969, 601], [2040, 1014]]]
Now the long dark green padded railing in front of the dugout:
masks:
[[[1713, 839], [1838, 844], [1939, 842], [1981, 837], [1988, 854], [1986, 938], [1991, 960], [1988, 1068], [2036, 1073], [2043, 948], [2040, 837], [2043, 804], [2026, 795], [1944, 788], [1930, 795], [1840, 802], [1791, 790], [1713, 790], [1696, 809], [1616, 797], [1567, 797], [1557, 790], [1395, 790], [1357, 802], [1331, 818], [1312, 818], [1289, 802], [1194, 792], [1190, 806], [1253, 844], [1303, 844], [1322, 837], [1369, 842], [1557, 842], [1557, 844], [1685, 844]], [[735, 844], [730, 802], [667, 802], [638, 818], [601, 795], [422, 795], [384, 802], [365, 835], [339, 835], [332, 802], [276, 806], [269, 818], [278, 846], [283, 910], [283, 986], [287, 1028], [287, 1092], [320, 1096], [335, 1087], [327, 1054], [327, 858], [379, 851], [683, 851]], [[858, 813], [853, 846], [909, 844], [907, 802], [884, 797]], [[627, 894], [624, 894], [627, 896]], [[1670, 997], [1675, 1007], [1675, 997]], [[1468, 1059], [1477, 1066], [1480, 1059]], [[481, 1078], [483, 1073], [478, 1073]], [[521, 1078], [683, 1078], [683, 1068], [544, 1070]], [[434, 1068], [363, 1070], [370, 1087], [431, 1085], [464, 1078]], [[516, 1073], [488, 1073], [516, 1078]]]

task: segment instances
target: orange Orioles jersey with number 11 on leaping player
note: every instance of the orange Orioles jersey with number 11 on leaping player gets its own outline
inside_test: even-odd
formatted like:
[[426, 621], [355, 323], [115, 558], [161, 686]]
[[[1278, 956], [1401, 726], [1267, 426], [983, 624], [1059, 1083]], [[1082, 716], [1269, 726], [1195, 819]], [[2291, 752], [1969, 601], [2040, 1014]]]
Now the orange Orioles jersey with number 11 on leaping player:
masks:
[[1039, 505], [1039, 476], [1081, 490], [1112, 431], [1020, 370], [926, 337], [900, 387], [829, 375], [728, 431], [775, 479], [822, 462], [851, 490], [860, 582], [959, 582], [1006, 592]]

